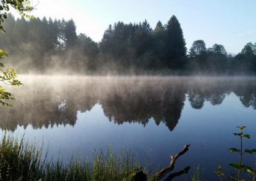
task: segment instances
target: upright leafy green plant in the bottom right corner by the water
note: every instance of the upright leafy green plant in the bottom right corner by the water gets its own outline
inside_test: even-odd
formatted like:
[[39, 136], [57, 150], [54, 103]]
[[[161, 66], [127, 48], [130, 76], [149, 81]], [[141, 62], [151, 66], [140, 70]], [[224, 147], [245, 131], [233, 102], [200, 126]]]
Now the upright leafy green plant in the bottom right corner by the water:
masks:
[[[232, 176], [228, 176], [225, 175], [225, 173], [223, 173], [221, 170], [223, 169], [223, 167], [221, 166], [217, 166], [217, 170], [215, 171], [216, 175], [218, 175], [218, 177], [220, 177], [220, 180], [222, 180], [222, 178], [227, 178], [228, 180], [236, 180], [236, 181], [246, 181], [246, 180], [252, 180], [255, 181], [256, 180], [256, 159], [254, 160], [255, 163], [255, 169], [253, 169], [252, 167], [243, 164], [242, 163], [242, 159], [243, 159], [243, 155], [244, 154], [253, 154], [256, 152], [256, 149], [248, 149], [248, 148], [244, 148], [243, 149], [243, 138], [248, 138], [250, 139], [251, 136], [250, 134], [244, 134], [243, 133], [243, 129], [245, 126], [237, 126], [237, 128], [240, 130], [240, 133], [233, 133], [234, 136], [239, 136], [240, 138], [240, 148], [230, 148], [230, 152], [237, 152], [239, 154], [239, 162], [237, 163], [230, 163], [229, 166], [232, 166], [233, 168], [236, 169], [237, 171], [237, 175], [232, 175]], [[241, 178], [241, 171], [246, 171], [246, 173], [248, 173], [248, 177], [250, 179], [242, 179]]]

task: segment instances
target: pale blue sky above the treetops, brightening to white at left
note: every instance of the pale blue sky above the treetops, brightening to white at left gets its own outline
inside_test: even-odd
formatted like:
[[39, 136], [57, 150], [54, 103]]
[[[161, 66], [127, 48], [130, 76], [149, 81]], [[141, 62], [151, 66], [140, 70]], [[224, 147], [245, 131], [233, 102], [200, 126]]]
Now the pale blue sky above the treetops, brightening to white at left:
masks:
[[214, 43], [227, 52], [241, 51], [256, 41], [256, 0], [32, 0], [36, 17], [73, 18], [77, 33], [100, 41], [109, 24], [117, 21], [140, 22], [147, 19], [152, 28], [176, 15], [187, 47], [202, 39], [207, 47]]

